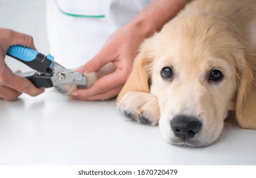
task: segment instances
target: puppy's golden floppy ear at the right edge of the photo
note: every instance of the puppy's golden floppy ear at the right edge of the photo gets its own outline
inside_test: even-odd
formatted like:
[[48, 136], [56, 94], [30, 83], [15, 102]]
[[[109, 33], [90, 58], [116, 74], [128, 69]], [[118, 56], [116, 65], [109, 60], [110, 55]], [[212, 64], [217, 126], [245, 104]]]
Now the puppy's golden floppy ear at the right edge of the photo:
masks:
[[246, 50], [237, 70], [236, 119], [240, 127], [256, 129], [256, 50]]

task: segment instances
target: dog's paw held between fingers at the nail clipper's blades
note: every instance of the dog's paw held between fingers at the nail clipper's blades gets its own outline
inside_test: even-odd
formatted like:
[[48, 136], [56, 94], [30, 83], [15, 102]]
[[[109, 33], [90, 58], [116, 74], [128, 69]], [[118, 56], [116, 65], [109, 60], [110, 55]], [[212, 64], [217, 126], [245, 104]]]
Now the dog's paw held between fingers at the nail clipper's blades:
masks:
[[76, 90], [76, 88], [89, 88], [98, 79], [96, 72], [85, 73], [84, 75], [86, 78], [85, 86], [80, 87], [73, 83], [67, 83], [64, 85], [55, 86], [55, 89], [58, 90], [58, 92], [60, 93], [68, 94], [71, 93], [73, 90]]

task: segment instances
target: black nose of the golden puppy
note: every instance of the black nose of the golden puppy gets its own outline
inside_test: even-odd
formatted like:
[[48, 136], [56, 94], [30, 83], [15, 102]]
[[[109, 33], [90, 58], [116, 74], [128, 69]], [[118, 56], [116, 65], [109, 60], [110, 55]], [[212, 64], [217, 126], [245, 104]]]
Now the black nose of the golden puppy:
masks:
[[183, 140], [193, 138], [201, 129], [202, 123], [193, 116], [176, 116], [171, 120], [171, 130]]

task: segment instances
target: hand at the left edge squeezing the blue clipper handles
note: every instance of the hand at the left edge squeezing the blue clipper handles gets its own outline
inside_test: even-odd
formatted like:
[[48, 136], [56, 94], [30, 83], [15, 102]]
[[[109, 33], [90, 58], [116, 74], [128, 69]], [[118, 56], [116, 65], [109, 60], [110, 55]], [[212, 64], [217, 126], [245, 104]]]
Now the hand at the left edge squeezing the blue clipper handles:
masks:
[[32, 37], [0, 28], [0, 41], [0, 99], [16, 100], [22, 93], [36, 96], [44, 92], [44, 88], [36, 88], [28, 79], [13, 74], [4, 62], [7, 50], [12, 45], [20, 44], [35, 49]]

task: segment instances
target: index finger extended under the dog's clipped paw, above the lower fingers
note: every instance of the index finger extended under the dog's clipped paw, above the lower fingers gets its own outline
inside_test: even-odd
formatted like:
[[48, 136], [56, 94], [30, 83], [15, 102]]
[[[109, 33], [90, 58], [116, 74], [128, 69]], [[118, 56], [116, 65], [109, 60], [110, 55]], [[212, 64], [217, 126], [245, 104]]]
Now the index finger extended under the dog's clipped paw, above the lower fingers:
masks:
[[97, 93], [104, 93], [111, 88], [116, 88], [117, 86], [123, 85], [127, 77], [128, 75], [125, 74], [125, 72], [117, 70], [98, 79], [96, 83], [90, 86], [90, 88], [74, 90], [70, 93], [70, 95], [89, 97], [92, 95], [96, 95]]

